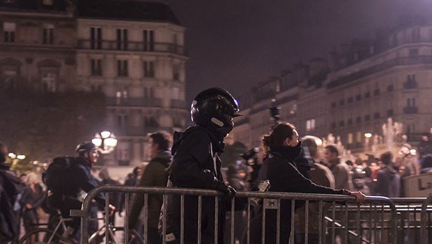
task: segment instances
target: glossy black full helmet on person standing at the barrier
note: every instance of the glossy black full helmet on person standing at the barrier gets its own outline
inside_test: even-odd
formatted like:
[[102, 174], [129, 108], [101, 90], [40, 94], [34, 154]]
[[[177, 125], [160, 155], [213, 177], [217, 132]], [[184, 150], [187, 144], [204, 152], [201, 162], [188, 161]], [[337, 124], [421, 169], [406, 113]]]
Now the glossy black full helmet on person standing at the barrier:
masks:
[[238, 102], [228, 91], [210, 88], [196, 95], [190, 116], [195, 124], [214, 129], [225, 137], [233, 130], [233, 117], [240, 116], [238, 111]]

